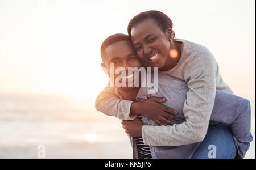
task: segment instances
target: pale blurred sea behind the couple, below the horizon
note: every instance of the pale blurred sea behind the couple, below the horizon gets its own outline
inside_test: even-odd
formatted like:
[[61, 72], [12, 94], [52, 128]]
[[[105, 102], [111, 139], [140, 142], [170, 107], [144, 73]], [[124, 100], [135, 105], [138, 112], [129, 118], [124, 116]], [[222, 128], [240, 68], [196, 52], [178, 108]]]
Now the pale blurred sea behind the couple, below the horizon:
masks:
[[[94, 100], [1, 92], [0, 158], [132, 158], [121, 120], [96, 111]], [[245, 158], [255, 158], [255, 96], [251, 108]]]

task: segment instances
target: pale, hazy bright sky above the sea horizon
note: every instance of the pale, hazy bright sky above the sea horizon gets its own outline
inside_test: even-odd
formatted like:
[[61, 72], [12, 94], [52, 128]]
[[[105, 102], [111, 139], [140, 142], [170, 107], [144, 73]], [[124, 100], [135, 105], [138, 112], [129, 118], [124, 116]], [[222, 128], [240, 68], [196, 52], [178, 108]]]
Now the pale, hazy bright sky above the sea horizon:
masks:
[[206, 46], [224, 81], [255, 103], [255, 1], [0, 0], [0, 91], [95, 99], [108, 82], [100, 46], [159, 10], [176, 37]]

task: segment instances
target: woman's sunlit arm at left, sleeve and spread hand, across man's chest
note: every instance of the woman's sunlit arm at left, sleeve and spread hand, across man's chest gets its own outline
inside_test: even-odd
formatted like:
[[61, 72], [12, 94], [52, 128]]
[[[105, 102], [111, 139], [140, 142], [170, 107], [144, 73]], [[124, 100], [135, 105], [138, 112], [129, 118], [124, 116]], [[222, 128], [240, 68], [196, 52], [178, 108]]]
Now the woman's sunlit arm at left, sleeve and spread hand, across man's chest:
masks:
[[97, 111], [122, 120], [134, 120], [137, 114], [141, 114], [159, 125], [163, 125], [163, 122], [173, 125], [170, 119], [174, 120], [177, 117], [168, 113], [176, 114], [176, 111], [160, 104], [163, 101], [165, 99], [159, 97], [151, 97], [142, 102], [122, 100], [115, 96], [115, 88], [105, 87], [98, 95], [95, 107]]

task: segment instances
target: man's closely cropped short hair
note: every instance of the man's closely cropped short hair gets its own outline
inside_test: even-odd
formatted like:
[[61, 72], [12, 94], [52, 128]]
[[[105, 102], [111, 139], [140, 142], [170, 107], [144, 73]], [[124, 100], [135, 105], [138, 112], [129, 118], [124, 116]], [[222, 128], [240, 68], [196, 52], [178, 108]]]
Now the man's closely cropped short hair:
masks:
[[114, 35], [109, 36], [108, 38], [106, 38], [104, 40], [104, 42], [101, 44], [101, 59], [102, 62], [104, 62], [105, 58], [106, 58], [106, 48], [109, 45], [114, 44], [115, 42], [119, 42], [119, 41], [131, 41], [130, 37], [128, 35], [125, 35], [123, 33], [117, 33]]

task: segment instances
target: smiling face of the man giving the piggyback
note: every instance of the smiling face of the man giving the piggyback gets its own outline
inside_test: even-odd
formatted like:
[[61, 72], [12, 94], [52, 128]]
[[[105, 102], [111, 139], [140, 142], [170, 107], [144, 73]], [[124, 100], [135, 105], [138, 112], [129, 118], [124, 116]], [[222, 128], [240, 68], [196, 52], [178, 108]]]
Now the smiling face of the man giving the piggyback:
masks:
[[[135, 80], [140, 80], [136, 76], [138, 74], [129, 74], [129, 68], [141, 68], [142, 63], [139, 58], [136, 56], [133, 50], [133, 46], [129, 42], [128, 37], [119, 37], [113, 44], [106, 44], [102, 46], [104, 50], [101, 50], [102, 69], [108, 73], [110, 81], [113, 82], [114, 87], [118, 88], [118, 92], [127, 99], [135, 99], [138, 94], [139, 86], [135, 86]], [[113, 40], [114, 41], [114, 40]], [[119, 74], [115, 74], [119, 73]], [[121, 73], [121, 74], [120, 74]], [[128, 74], [126, 74], [128, 73]], [[129, 83], [133, 84], [132, 87], [129, 87]]]

